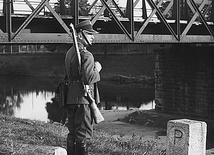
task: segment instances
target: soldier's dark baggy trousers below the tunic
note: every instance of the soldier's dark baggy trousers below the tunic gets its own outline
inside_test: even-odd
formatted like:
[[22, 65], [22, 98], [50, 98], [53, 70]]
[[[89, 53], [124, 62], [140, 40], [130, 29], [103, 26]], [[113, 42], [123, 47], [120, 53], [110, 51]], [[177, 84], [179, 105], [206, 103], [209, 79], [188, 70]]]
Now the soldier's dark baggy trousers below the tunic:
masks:
[[67, 105], [68, 130], [67, 153], [68, 155], [86, 155], [86, 142], [93, 134], [93, 121], [88, 104]]

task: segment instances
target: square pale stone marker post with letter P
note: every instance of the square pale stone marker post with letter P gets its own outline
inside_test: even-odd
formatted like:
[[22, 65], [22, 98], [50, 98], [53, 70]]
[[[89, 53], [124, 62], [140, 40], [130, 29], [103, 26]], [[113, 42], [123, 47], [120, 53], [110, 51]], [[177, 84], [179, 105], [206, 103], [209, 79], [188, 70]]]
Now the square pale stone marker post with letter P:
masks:
[[206, 155], [207, 124], [179, 119], [167, 123], [166, 155]]

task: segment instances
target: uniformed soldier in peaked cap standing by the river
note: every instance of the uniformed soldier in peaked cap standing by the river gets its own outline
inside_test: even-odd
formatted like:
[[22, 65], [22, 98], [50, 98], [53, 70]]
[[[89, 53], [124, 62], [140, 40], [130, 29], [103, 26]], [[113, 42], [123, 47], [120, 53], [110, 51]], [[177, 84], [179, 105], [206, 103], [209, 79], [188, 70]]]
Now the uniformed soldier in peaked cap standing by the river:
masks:
[[67, 95], [67, 114], [68, 130], [67, 152], [68, 155], [87, 155], [87, 140], [92, 137], [93, 118], [89, 108], [84, 88], [87, 86], [87, 92], [93, 97], [96, 103], [99, 103], [99, 93], [96, 83], [100, 81], [99, 62], [94, 61], [92, 53], [86, 47], [92, 45], [94, 34], [98, 32], [93, 30], [89, 20], [80, 22], [75, 26], [77, 32], [78, 48], [81, 56], [81, 66], [79, 68], [78, 56], [74, 53], [73, 46], [65, 57], [66, 76], [69, 80]]

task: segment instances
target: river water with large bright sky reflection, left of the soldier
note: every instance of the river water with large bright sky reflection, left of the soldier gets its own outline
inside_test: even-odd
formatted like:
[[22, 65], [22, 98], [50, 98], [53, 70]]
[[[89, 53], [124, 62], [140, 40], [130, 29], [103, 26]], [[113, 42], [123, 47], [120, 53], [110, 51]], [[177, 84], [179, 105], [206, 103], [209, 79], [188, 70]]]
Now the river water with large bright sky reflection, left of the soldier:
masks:
[[54, 81], [0, 79], [0, 113], [32, 120], [49, 121], [46, 103], [54, 97]]

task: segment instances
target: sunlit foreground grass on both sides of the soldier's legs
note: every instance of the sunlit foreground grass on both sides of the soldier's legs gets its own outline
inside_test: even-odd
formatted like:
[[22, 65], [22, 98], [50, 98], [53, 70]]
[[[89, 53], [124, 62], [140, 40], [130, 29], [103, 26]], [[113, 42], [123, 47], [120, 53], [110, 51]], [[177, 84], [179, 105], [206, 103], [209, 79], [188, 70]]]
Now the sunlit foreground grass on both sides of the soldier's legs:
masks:
[[[50, 124], [0, 115], [0, 154], [1, 155], [37, 155], [44, 154], [44, 146], [66, 148], [67, 128], [60, 124]], [[154, 141], [144, 140], [133, 135], [111, 135], [103, 131], [94, 131], [89, 142], [93, 155], [147, 155], [161, 153]], [[102, 142], [102, 143], [101, 143]]]

